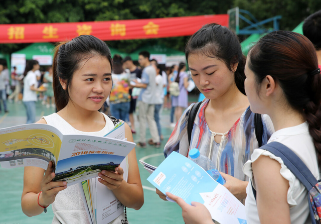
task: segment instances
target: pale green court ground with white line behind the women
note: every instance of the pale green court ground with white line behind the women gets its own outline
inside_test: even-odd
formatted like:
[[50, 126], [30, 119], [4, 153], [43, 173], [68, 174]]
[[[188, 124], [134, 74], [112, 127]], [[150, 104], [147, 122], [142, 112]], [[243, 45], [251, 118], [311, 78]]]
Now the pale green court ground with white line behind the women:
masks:
[[[190, 102], [197, 99], [197, 96], [190, 97]], [[26, 111], [22, 103], [8, 103], [9, 114], [0, 114], [0, 129], [22, 125], [26, 123]], [[54, 113], [54, 108], [46, 108], [40, 102], [37, 102], [37, 117], [38, 121], [42, 116]], [[163, 149], [168, 141], [172, 129], [170, 128], [170, 110], [163, 110], [162, 116], [162, 132], [164, 140], [161, 148], [147, 146], [142, 149], [136, 147], [137, 161], [139, 159], [145, 162], [158, 166], [164, 160]], [[137, 130], [138, 124], [136, 125]], [[134, 141], [138, 142], [138, 132], [133, 135]], [[150, 138], [149, 131], [146, 131], [147, 139]], [[143, 166], [138, 162], [140, 178], [144, 190], [144, 205], [139, 210], [127, 209], [127, 218], [130, 224], [142, 223], [184, 223], [182, 218], [182, 209], [175, 203], [163, 201], [156, 195], [155, 188], [146, 180], [149, 173], [143, 169]], [[3, 169], [0, 167], [0, 224], [15, 223], [15, 224], [46, 224], [51, 223], [54, 216], [51, 205], [48, 207], [47, 213], [42, 213], [35, 217], [26, 216], [21, 209], [21, 193], [23, 190], [23, 168]]]

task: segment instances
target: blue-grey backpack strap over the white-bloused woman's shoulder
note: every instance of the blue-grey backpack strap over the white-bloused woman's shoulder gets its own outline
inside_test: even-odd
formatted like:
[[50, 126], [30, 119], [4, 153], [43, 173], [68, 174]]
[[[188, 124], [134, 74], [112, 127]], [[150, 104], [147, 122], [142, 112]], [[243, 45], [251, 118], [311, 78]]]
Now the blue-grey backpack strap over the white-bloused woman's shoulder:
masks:
[[[280, 157], [285, 166], [294, 174], [294, 176], [304, 185], [304, 187], [310, 191], [312, 187], [318, 181], [315, 179], [311, 171], [306, 167], [306, 165], [302, 162], [302, 160], [287, 146], [283, 145], [279, 142], [271, 142], [266, 144], [260, 149], [265, 149], [275, 156]], [[256, 191], [253, 188], [254, 197], [256, 200]], [[254, 192], [255, 191], [255, 192]]]

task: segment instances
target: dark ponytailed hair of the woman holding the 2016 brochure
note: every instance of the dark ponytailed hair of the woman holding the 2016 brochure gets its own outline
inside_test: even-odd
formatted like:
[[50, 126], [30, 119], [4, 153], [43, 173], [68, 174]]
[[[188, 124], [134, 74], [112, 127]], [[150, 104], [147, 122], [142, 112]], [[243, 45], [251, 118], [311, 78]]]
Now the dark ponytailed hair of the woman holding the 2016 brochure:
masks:
[[[91, 35], [81, 35], [71, 41], [60, 42], [55, 48], [53, 61], [53, 87], [57, 110], [64, 108], [69, 101], [68, 88], [74, 72], [79, 68], [79, 63], [95, 55], [106, 57], [112, 69], [112, 59], [105, 42]], [[67, 81], [64, 90], [59, 78]]]

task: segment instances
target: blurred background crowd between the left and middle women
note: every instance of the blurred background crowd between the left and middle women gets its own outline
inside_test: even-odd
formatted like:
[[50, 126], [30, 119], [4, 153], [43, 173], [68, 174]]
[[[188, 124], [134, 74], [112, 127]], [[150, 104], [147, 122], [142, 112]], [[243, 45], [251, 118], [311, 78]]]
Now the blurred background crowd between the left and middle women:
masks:
[[[165, 68], [165, 69], [164, 69]], [[146, 142], [156, 148], [164, 139], [161, 127], [163, 108], [171, 108], [171, 126], [174, 128], [174, 114], [178, 121], [183, 110], [188, 107], [188, 74], [186, 64], [165, 67], [155, 59], [150, 60], [147, 51], [139, 53], [138, 66], [129, 56], [124, 59], [120, 55], [113, 57], [113, 88], [107, 99], [109, 114], [117, 119], [129, 121], [131, 131], [136, 134], [134, 112], [138, 107], [139, 122], [138, 147], [145, 148]], [[179, 94], [173, 96], [168, 91], [172, 82], [179, 85]], [[138, 101], [138, 102], [137, 102]], [[168, 105], [171, 102], [171, 106]], [[145, 121], [147, 121], [151, 139], [145, 138]]]

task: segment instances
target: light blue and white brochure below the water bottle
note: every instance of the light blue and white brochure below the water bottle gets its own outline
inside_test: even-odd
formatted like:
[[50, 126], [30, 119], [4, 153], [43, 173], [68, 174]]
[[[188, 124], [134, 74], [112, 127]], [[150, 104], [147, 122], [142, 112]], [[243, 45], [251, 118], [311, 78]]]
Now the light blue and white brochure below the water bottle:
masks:
[[164, 194], [170, 192], [189, 204], [203, 203], [221, 224], [246, 224], [244, 205], [204, 169], [177, 152], [171, 153], [147, 180]]

